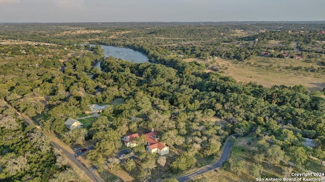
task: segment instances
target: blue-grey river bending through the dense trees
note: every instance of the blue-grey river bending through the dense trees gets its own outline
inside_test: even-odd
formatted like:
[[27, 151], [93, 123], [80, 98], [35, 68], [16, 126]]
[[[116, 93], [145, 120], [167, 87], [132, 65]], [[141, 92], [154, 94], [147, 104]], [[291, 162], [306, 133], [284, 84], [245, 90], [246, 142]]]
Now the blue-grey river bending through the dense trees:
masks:
[[[90, 44], [90, 46], [95, 46], [95, 44]], [[101, 45], [101, 47], [104, 50], [105, 58], [113, 56], [114, 58], [121, 58], [123, 60], [133, 61], [135, 63], [146, 63], [149, 61], [147, 56], [133, 49], [114, 47], [110, 45]], [[94, 67], [98, 68], [100, 68], [100, 66], [100, 62], [94, 65]]]

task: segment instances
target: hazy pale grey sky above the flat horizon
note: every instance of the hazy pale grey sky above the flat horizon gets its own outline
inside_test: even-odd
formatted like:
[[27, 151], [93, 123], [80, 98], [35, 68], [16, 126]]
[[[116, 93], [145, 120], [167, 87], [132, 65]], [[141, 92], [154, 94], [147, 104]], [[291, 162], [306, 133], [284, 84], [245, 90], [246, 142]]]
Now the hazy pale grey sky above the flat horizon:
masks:
[[0, 22], [323, 21], [325, 0], [0, 0]]

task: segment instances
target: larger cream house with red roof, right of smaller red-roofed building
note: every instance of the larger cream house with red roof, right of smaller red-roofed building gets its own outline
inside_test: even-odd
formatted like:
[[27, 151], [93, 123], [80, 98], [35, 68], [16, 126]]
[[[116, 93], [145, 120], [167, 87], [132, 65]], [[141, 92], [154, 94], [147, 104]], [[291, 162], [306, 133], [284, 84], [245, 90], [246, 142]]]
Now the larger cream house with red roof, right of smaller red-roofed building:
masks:
[[158, 153], [159, 155], [169, 154], [169, 147], [158, 141], [157, 132], [152, 131], [144, 134], [146, 136], [146, 150], [150, 153]]

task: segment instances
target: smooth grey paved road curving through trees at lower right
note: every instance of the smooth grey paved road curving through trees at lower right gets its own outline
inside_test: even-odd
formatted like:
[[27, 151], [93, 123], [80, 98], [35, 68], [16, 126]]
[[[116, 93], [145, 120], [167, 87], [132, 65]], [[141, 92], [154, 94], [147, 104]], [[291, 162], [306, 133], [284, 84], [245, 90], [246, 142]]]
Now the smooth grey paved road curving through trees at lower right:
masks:
[[185, 182], [185, 181], [191, 180], [191, 179], [193, 179], [195, 177], [198, 177], [199, 175], [207, 173], [209, 171], [218, 169], [222, 165], [222, 163], [224, 161], [228, 160], [231, 146], [232, 146], [232, 143], [231, 143], [231, 140], [229, 139], [228, 142], [226, 142], [226, 144], [225, 144], [225, 146], [223, 148], [220, 159], [216, 163], [214, 163], [213, 165], [207, 165], [207, 166], [205, 166], [205, 167], [203, 167], [201, 169], [198, 169], [198, 170], [193, 171], [191, 173], [185, 174], [185, 175], [177, 178], [177, 180], [180, 181], [180, 182]]

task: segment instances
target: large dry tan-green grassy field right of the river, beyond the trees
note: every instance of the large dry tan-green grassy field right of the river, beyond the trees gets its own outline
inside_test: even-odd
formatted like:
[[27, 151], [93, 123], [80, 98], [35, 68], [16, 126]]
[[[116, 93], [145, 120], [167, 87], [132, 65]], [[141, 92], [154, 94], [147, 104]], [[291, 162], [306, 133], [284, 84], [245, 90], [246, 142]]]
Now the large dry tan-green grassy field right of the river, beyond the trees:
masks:
[[[302, 60], [281, 59], [269, 57], [255, 57], [252, 60], [239, 62], [235, 64], [233, 61], [216, 59], [185, 59], [186, 62], [198, 61], [199, 63], [215, 65], [219, 72], [225, 76], [232, 76], [237, 81], [248, 83], [250, 81], [257, 82], [266, 87], [272, 85], [294, 86], [296, 84], [305, 85], [308, 90], [322, 90], [325, 87], [325, 73], [307, 72], [303, 70], [286, 69], [285, 67], [324, 67], [319, 63], [307, 63]], [[206, 70], [211, 72], [212, 70]]]

